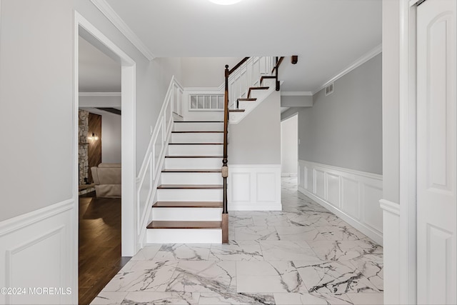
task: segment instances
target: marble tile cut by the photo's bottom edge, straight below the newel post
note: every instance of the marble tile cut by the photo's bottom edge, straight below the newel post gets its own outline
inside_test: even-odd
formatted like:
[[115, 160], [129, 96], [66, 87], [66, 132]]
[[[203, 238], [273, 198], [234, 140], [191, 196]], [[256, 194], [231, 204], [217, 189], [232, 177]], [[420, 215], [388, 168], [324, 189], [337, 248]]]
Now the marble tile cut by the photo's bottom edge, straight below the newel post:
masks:
[[214, 304], [275, 304], [273, 294], [248, 294], [248, 293], [225, 293], [219, 294], [202, 292], [199, 305]]

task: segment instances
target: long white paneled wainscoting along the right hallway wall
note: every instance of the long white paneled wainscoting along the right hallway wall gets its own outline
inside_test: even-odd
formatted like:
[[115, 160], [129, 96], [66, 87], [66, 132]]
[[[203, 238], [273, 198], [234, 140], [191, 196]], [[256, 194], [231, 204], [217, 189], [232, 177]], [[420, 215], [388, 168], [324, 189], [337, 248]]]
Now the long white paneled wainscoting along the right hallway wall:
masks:
[[298, 160], [298, 191], [383, 244], [382, 175]]

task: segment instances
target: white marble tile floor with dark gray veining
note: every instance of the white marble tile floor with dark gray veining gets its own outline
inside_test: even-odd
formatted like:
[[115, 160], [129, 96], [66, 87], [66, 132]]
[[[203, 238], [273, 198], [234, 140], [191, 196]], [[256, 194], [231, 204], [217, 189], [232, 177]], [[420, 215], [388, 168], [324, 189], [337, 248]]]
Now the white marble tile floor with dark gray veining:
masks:
[[91, 304], [383, 304], [383, 249], [282, 179], [283, 211], [230, 213], [229, 244], [151, 244]]

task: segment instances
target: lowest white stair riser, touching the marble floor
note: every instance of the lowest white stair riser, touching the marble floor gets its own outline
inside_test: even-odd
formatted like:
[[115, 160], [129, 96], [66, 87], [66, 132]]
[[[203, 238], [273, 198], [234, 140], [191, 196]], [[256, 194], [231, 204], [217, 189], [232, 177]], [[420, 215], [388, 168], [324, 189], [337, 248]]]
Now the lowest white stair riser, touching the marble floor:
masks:
[[221, 229], [148, 229], [151, 244], [222, 244]]

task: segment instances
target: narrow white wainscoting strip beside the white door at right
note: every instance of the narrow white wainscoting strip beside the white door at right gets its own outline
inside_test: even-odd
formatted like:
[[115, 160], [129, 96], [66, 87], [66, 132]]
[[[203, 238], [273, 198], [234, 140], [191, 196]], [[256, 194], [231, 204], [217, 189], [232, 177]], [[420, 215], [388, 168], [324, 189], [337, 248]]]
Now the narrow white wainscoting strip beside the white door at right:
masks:
[[[401, 289], [402, 269], [400, 246], [400, 205], [386, 199], [379, 201], [383, 210], [384, 224], [384, 304], [404, 304], [401, 295], [408, 294], [407, 289]], [[404, 279], [403, 279], [404, 281]]]

